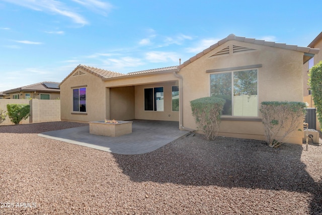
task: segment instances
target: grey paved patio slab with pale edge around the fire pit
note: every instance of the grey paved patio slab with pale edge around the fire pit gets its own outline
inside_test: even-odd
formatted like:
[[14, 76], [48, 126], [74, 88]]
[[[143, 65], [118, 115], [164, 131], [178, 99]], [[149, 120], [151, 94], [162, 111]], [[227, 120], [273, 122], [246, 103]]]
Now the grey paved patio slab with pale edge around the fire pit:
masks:
[[130, 121], [133, 121], [132, 133], [118, 137], [91, 134], [89, 126], [48, 131], [38, 135], [115, 154], [137, 155], [152, 152], [189, 133], [179, 130], [179, 122]]

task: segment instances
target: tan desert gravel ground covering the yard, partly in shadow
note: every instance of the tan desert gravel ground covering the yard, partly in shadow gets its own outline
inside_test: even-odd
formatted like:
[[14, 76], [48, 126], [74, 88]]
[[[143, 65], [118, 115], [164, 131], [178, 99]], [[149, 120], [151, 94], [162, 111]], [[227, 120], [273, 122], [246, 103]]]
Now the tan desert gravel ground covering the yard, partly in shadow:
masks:
[[197, 134], [117, 155], [37, 135], [84, 125], [0, 126], [0, 214], [322, 214], [322, 146]]

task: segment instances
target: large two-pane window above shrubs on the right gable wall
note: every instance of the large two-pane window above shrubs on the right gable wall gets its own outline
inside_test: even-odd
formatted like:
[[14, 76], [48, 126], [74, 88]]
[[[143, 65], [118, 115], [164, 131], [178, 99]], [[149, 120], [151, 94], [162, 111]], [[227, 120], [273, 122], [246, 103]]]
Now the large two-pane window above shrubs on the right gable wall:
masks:
[[258, 116], [257, 69], [211, 74], [210, 95], [226, 100], [222, 115]]

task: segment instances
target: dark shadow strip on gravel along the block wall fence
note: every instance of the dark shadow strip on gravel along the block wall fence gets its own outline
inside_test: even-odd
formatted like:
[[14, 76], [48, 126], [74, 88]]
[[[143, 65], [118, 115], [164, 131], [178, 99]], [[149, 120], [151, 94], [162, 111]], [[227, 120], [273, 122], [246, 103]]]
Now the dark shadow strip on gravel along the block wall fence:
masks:
[[87, 123], [78, 122], [40, 122], [19, 125], [0, 125], [0, 133], [42, 133], [52, 130], [86, 126]]

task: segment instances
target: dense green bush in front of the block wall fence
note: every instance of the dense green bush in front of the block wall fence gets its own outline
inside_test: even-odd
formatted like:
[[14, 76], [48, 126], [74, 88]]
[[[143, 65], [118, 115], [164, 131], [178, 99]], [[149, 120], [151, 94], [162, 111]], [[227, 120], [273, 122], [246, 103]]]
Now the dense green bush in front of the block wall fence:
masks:
[[30, 105], [26, 104], [8, 104], [7, 110], [10, 120], [16, 125], [30, 115]]

